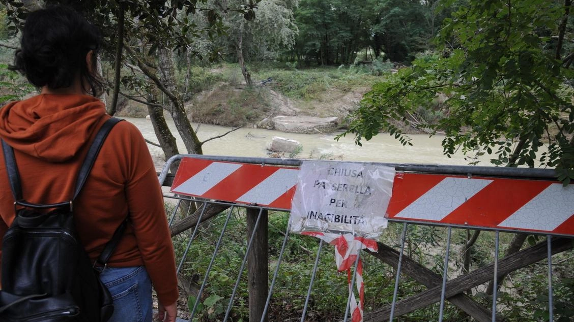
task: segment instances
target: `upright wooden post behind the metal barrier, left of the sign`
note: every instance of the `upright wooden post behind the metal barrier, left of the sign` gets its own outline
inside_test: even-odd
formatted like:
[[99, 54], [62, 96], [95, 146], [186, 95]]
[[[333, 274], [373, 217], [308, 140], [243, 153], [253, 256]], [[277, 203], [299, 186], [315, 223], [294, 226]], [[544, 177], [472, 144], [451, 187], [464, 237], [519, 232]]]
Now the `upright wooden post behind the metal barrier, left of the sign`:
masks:
[[[247, 209], [247, 241], [253, 233], [259, 209]], [[267, 247], [267, 210], [263, 210], [259, 225], [247, 255], [249, 283], [249, 321], [261, 321], [269, 294], [269, 248]], [[265, 317], [267, 321], [267, 317]]]

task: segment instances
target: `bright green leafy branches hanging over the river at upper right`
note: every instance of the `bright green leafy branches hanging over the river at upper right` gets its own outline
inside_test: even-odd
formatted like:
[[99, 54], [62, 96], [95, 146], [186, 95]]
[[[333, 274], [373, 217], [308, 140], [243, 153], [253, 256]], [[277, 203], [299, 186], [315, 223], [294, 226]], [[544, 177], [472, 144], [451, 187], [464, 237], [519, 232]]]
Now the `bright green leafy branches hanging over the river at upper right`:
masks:
[[408, 112], [445, 96], [443, 119], [424, 124], [445, 132], [445, 155], [460, 148], [494, 155], [495, 165], [553, 167], [568, 184], [574, 179], [574, 74], [566, 61], [574, 48], [564, 41], [572, 25], [563, 23], [569, 7], [569, 0], [470, 1], [445, 19], [436, 39], [449, 45], [443, 55], [418, 57], [374, 85], [340, 136], [353, 133], [360, 145], [385, 131], [408, 144], [393, 121], [409, 124]]

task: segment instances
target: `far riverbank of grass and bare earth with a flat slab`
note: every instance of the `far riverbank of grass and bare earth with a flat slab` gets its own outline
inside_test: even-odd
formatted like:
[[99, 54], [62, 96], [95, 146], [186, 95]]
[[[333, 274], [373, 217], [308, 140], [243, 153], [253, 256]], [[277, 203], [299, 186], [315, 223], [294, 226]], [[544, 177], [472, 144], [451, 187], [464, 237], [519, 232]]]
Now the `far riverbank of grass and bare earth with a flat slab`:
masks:
[[[389, 72], [390, 73], [390, 72]], [[222, 64], [196, 70], [195, 80], [203, 91], [188, 88], [185, 109], [193, 122], [276, 129], [289, 133], [331, 133], [346, 128], [347, 117], [364, 93], [384, 79], [369, 69], [347, 68], [286, 69], [277, 66], [253, 68], [254, 87], [246, 87], [236, 64]], [[188, 81], [190, 83], [190, 81]], [[118, 116], [144, 117], [147, 108], [125, 101]], [[420, 133], [404, 124], [405, 133]]]

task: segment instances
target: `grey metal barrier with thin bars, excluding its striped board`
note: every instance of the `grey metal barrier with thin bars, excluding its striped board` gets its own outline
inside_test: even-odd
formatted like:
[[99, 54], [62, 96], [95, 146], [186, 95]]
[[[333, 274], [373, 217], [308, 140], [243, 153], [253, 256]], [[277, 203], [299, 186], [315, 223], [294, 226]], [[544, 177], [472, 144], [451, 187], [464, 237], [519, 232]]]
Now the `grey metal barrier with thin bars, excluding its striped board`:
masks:
[[[171, 185], [173, 175], [168, 174], [169, 168], [184, 157], [178, 155], [168, 160], [160, 174], [162, 185]], [[292, 167], [301, 164], [298, 159], [193, 157]], [[541, 169], [385, 165], [401, 173], [468, 178], [553, 180], [554, 175], [552, 170]], [[564, 189], [567, 196], [574, 195], [572, 184]], [[180, 286], [185, 294], [191, 295], [189, 320], [354, 320], [349, 310], [349, 290], [356, 287], [355, 278], [338, 274], [333, 263], [325, 265], [332, 260], [332, 247], [325, 246], [323, 241], [290, 234], [288, 226], [278, 231], [277, 222], [282, 223], [281, 227], [286, 226], [285, 209], [173, 193], [165, 193], [164, 197], [170, 209]], [[573, 244], [569, 233], [404, 218], [389, 218], [389, 222], [389, 234], [377, 243], [378, 250], [360, 253], [366, 267], [364, 321], [571, 320], [574, 311], [568, 297], [574, 295], [571, 281], [574, 274], [569, 269], [574, 267], [574, 256], [570, 256]], [[243, 229], [245, 239], [238, 239]], [[482, 241], [480, 248], [476, 244], [471, 247], [476, 239]], [[501, 241], [507, 245], [510, 239], [519, 244], [514, 252], [501, 246]], [[521, 248], [525, 241], [528, 245]], [[316, 252], [307, 245], [315, 245]], [[208, 246], [211, 253], [207, 253]], [[506, 250], [507, 256], [502, 256], [502, 250]], [[229, 258], [230, 253], [235, 256]], [[299, 254], [299, 258], [293, 259], [291, 253]], [[285, 262], [286, 257], [292, 262]], [[282, 273], [295, 265], [293, 261], [304, 267], [304, 272]], [[197, 266], [199, 263], [203, 267]], [[357, 272], [356, 265], [353, 274]], [[468, 268], [474, 270], [467, 272]], [[317, 285], [318, 280], [321, 285]], [[227, 288], [221, 286], [223, 282]], [[294, 284], [298, 289], [285, 290]], [[222, 289], [227, 290], [225, 294]], [[342, 299], [346, 299], [346, 304]]]

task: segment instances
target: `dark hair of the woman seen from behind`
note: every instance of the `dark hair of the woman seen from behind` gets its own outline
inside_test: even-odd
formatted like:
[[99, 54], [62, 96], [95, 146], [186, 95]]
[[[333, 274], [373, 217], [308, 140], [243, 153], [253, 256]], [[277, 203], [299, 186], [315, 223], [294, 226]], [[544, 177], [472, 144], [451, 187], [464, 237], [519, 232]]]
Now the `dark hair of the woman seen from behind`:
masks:
[[92, 70], [100, 48], [98, 28], [71, 7], [53, 5], [33, 11], [26, 18], [22, 30], [21, 49], [14, 55], [10, 69], [24, 74], [36, 87], [65, 88], [80, 74], [82, 86], [90, 85], [92, 95], [102, 90], [102, 80], [90, 73], [86, 55], [92, 54]]

